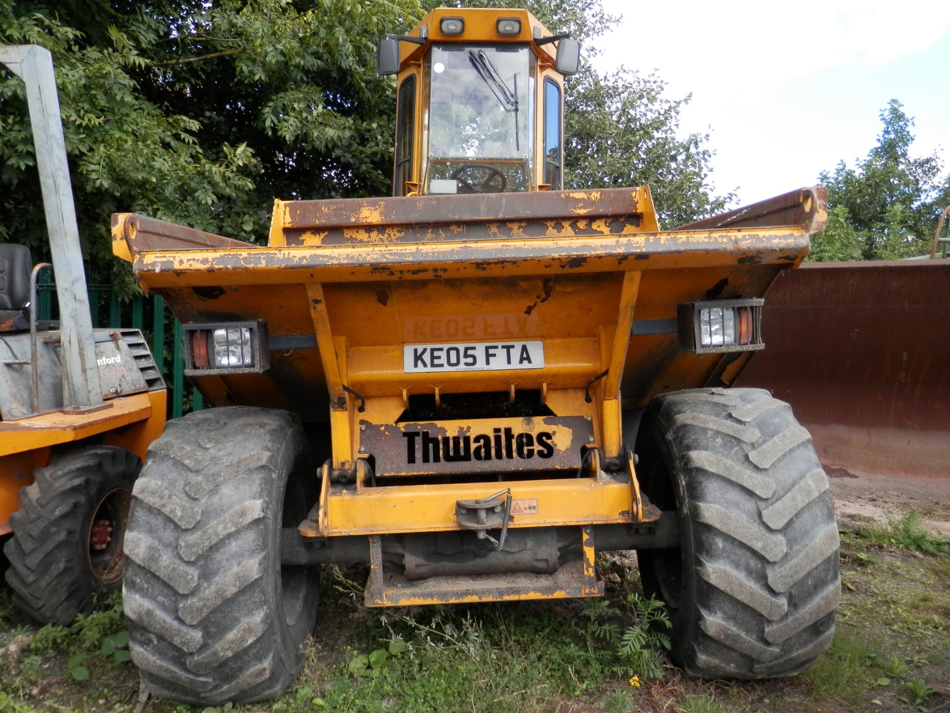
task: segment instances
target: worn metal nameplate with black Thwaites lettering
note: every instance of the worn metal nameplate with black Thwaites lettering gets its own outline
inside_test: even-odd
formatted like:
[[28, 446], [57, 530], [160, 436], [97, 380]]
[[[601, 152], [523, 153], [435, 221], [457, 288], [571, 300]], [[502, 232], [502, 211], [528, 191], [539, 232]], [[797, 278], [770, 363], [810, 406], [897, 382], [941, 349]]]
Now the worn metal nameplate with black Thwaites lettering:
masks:
[[361, 453], [375, 458], [381, 476], [576, 470], [594, 436], [581, 416], [361, 421], [360, 427]]

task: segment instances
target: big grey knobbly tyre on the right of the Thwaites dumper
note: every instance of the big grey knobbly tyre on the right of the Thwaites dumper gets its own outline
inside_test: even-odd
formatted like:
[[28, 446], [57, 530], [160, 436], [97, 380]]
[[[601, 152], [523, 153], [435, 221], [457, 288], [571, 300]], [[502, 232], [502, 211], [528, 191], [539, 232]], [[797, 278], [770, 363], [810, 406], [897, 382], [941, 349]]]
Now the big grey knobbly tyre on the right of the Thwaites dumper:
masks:
[[691, 676], [758, 679], [811, 665], [841, 599], [825, 472], [788, 404], [759, 389], [661, 395], [637, 436], [640, 483], [679, 512], [680, 549], [638, 553]]

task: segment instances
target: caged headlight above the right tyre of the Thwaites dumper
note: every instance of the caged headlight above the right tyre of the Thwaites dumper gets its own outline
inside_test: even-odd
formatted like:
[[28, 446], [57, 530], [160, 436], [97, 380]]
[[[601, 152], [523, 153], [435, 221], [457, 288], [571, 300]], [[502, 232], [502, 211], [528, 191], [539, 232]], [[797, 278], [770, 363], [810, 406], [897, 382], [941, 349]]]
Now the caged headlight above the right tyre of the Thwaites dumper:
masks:
[[763, 299], [686, 302], [678, 307], [679, 346], [693, 354], [762, 349]]

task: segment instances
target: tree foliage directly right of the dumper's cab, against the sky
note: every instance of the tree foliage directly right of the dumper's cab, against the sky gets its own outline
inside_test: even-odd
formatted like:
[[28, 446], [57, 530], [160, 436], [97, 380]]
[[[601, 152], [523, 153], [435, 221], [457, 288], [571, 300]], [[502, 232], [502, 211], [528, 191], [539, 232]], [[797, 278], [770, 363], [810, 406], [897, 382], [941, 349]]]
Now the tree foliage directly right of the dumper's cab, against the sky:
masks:
[[[600, 74], [592, 63], [598, 40], [619, 18], [599, 0], [466, 0], [466, 7], [524, 8], [554, 34], [580, 40], [580, 72], [564, 83], [564, 186], [649, 185], [661, 225], [692, 222], [721, 211], [732, 195], [716, 195], [710, 179], [709, 134], [679, 132], [690, 96], [671, 100], [656, 75], [621, 68]], [[426, 9], [445, 7], [427, 0]]]

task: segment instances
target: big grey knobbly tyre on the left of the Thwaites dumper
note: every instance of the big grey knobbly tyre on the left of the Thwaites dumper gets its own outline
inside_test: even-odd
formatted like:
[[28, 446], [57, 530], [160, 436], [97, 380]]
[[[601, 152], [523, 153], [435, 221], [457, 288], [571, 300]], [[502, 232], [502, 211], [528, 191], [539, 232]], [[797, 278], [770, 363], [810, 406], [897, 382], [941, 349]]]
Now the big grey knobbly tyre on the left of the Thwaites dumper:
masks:
[[280, 566], [281, 527], [314, 502], [303, 431], [283, 411], [170, 421], [148, 450], [125, 537], [132, 659], [156, 695], [217, 704], [294, 683], [319, 568]]

